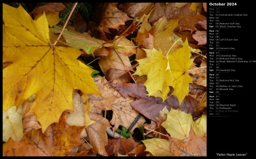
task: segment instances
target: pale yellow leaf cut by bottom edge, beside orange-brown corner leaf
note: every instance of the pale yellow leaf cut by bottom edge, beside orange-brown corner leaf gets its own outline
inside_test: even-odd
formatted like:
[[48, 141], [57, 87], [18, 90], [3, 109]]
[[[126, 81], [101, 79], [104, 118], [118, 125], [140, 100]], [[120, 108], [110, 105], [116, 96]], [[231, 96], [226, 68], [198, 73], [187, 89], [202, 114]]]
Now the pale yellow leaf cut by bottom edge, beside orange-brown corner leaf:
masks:
[[147, 139], [142, 140], [146, 146], [145, 151], [150, 152], [153, 156], [174, 156], [170, 152], [170, 141], [166, 139]]

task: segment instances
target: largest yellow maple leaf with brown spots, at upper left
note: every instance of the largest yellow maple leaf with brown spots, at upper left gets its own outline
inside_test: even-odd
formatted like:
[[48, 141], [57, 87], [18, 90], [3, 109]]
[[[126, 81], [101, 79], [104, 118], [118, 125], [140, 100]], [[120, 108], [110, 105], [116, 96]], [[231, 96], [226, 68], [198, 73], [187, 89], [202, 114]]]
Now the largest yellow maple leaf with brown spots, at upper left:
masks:
[[73, 110], [73, 89], [100, 95], [90, 76], [93, 70], [77, 58], [81, 51], [53, 46], [46, 15], [37, 20], [20, 5], [3, 4], [3, 110], [36, 98], [30, 112], [46, 128], [59, 121], [63, 111]]

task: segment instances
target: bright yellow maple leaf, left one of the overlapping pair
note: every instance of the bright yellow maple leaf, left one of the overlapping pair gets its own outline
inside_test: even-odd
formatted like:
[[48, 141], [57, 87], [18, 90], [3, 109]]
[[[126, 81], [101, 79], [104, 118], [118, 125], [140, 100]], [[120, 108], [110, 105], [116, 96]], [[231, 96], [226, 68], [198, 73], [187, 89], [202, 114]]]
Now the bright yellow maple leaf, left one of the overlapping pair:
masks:
[[133, 75], [147, 75], [144, 85], [147, 88], [148, 96], [161, 97], [164, 100], [170, 92], [168, 86], [172, 85], [172, 73], [168, 69], [168, 59], [163, 56], [161, 50], [144, 49], [147, 57], [137, 60], [139, 66]]

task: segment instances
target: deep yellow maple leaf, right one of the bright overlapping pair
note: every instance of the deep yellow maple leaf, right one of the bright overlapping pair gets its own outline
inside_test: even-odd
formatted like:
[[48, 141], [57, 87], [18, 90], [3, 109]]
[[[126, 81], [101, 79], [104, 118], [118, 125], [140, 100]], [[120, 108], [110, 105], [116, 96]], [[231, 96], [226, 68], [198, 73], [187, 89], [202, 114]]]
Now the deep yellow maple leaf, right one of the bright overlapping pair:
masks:
[[186, 39], [182, 48], [168, 54], [168, 60], [174, 77], [174, 83], [172, 84], [174, 92], [172, 95], [177, 97], [179, 103], [188, 95], [189, 83], [192, 83], [191, 76], [186, 72], [194, 60], [190, 59], [190, 51], [188, 40]]

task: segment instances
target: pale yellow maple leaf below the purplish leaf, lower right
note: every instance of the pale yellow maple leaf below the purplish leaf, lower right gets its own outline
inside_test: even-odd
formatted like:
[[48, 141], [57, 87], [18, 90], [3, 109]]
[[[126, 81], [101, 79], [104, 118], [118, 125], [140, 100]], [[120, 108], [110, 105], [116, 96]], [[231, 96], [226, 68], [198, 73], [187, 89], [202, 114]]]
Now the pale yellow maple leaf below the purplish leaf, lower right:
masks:
[[166, 131], [179, 140], [188, 137], [193, 122], [191, 113], [186, 114], [181, 110], [171, 108], [170, 113], [167, 114], [167, 119], [161, 125], [166, 128]]

